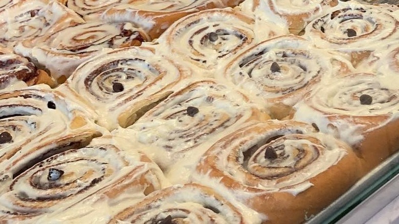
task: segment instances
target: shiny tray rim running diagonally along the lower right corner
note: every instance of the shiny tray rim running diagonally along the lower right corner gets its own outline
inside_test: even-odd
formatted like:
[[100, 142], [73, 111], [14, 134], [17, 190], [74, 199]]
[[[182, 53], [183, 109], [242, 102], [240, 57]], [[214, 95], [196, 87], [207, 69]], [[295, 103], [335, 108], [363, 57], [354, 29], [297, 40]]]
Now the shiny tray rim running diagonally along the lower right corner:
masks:
[[399, 173], [399, 151], [354, 184], [306, 224], [335, 223]]

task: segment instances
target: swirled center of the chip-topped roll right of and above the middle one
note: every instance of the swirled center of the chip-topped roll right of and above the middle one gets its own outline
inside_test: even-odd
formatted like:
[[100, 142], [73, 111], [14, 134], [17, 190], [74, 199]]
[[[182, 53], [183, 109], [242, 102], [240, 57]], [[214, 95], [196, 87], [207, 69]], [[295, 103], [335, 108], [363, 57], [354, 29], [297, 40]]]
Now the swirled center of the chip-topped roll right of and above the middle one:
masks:
[[[285, 95], [306, 86], [322, 73], [311, 54], [302, 50], [277, 50], [241, 63], [235, 82], [247, 75], [263, 95]], [[277, 68], [276, 68], [277, 66]], [[241, 78], [239, 78], [241, 77]]]

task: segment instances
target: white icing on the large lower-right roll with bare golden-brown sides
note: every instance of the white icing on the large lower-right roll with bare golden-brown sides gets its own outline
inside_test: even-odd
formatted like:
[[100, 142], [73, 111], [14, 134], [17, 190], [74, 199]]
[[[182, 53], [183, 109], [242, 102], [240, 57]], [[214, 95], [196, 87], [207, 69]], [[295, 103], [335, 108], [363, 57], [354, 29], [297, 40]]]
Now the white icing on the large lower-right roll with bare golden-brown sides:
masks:
[[[251, 176], [251, 178], [256, 179], [257, 183], [255, 184], [254, 181], [252, 181], [252, 184], [250, 185], [252, 188], [262, 190], [263, 192], [280, 191], [290, 192], [294, 195], [297, 195], [313, 186], [313, 184], [309, 181], [311, 178], [320, 175], [329, 167], [336, 165], [347, 153], [347, 146], [337, 142], [337, 140], [333, 137], [324, 135], [322, 133], [315, 133], [312, 131], [311, 127], [308, 127], [303, 123], [301, 124], [304, 125], [302, 127], [297, 125], [298, 124], [295, 123], [290, 124], [289, 122], [284, 123], [277, 121], [250, 125], [249, 127], [240, 129], [240, 132], [245, 133], [245, 136], [236, 132], [235, 136], [231, 136], [230, 138], [224, 139], [223, 141], [213, 145], [212, 148], [204, 154], [204, 158], [207, 158], [207, 156], [216, 156], [217, 159], [214, 161], [206, 160], [206, 163], [212, 163], [211, 166], [215, 166], [216, 169], [224, 173], [223, 175], [230, 176], [243, 186], [247, 186], [249, 177]], [[261, 129], [262, 131], [256, 131], [257, 129]], [[302, 134], [296, 134], [298, 131], [300, 131]], [[280, 135], [284, 136], [281, 138], [287, 138], [283, 141], [283, 145], [285, 145], [285, 155], [288, 155], [288, 157], [277, 159], [277, 162], [265, 160], [263, 156], [266, 147], [262, 147], [262, 145], [264, 145], [263, 142], [272, 137]], [[310, 142], [306, 138], [317, 139], [319, 143]], [[275, 144], [276, 141], [281, 140], [276, 139], [270, 142], [269, 145]], [[226, 144], [227, 142], [229, 142], [229, 144]], [[243, 151], [252, 148], [254, 145], [257, 145], [258, 149], [252, 154], [248, 163], [244, 163], [243, 159], [235, 160], [236, 156], [239, 155], [238, 152], [242, 153]], [[281, 167], [279, 169], [286, 169], [285, 166], [294, 166], [295, 163], [298, 163], [294, 158], [295, 154], [292, 154], [294, 151], [296, 151], [294, 148], [305, 149], [304, 147], [308, 147], [314, 154], [313, 159], [309, 160], [310, 162], [306, 166], [302, 167], [301, 169], [298, 168], [298, 171], [284, 174], [281, 178], [257, 177], [262, 172], [265, 172], [267, 175], [270, 175], [271, 172], [279, 172], [278, 170], [267, 171], [268, 166]], [[277, 154], [281, 153], [278, 150], [276, 152]], [[229, 159], [230, 156], [233, 156], [233, 161], [229, 161], [231, 160]], [[258, 166], [258, 170], [253, 170], [255, 166]], [[199, 169], [199, 167], [197, 167], [197, 169]], [[259, 175], [256, 174], [258, 172]], [[200, 173], [207, 175], [206, 168]], [[212, 177], [205, 177], [205, 180], [202, 180], [202, 177], [197, 177], [197, 173], [195, 173], [193, 178], [199, 183], [207, 184], [208, 178]], [[239, 194], [241, 194], [241, 192]], [[250, 197], [250, 195], [248, 195], [248, 197]]]

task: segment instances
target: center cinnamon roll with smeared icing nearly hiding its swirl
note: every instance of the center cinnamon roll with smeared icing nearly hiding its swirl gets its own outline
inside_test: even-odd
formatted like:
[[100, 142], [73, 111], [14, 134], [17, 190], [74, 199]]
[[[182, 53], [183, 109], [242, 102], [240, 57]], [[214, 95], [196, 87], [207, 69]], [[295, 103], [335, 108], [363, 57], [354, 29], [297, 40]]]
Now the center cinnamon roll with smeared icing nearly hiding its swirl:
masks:
[[[242, 123], [268, 119], [269, 115], [246, 96], [213, 80], [204, 80], [173, 93], [120, 132], [144, 144], [143, 150], [153, 156], [169, 179], [181, 183], [182, 170], [193, 166], [195, 159], [215, 141]], [[188, 177], [189, 171], [185, 174]]]

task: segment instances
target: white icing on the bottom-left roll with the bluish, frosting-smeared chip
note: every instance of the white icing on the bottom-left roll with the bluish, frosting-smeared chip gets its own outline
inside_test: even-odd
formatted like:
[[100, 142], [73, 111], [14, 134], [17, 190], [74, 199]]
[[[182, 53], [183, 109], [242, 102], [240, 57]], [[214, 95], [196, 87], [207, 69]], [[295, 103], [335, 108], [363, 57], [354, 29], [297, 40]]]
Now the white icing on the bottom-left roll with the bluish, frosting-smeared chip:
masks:
[[[74, 215], [87, 219], [90, 217], [88, 215], [97, 213], [98, 220], [104, 221], [135, 200], [143, 198], [142, 191], [147, 185], [151, 184], [154, 190], [168, 186], [159, 167], [143, 161], [142, 156], [134, 150], [131, 143], [123, 138], [107, 136], [94, 139], [85, 148], [73, 149], [53, 156], [18, 176], [12, 185], [12, 190], [0, 196], [2, 198], [0, 207], [5, 211], [39, 214], [53, 212], [38, 217], [39, 220], [46, 220], [49, 217], [62, 220]], [[47, 179], [49, 168], [63, 170], [64, 173], [59, 180], [49, 181]], [[132, 183], [142, 175], [153, 175], [154, 178], [148, 178], [151, 181], [143, 186], [133, 185]], [[95, 178], [99, 180], [92, 186]], [[131, 183], [130, 187], [123, 188], [125, 192], [121, 194], [112, 192], [118, 187], [128, 186], [129, 183]], [[59, 186], [47, 189], [46, 186], [52, 184]], [[107, 197], [109, 191], [113, 193], [112, 197]], [[32, 199], [49, 197], [49, 200], [26, 203], [24, 207], [19, 207], [16, 203], [18, 197], [15, 195], [24, 195]], [[62, 197], [62, 200], [58, 201], [57, 197]], [[127, 200], [128, 203], [121, 200]], [[119, 205], [114, 207], [116, 204]], [[100, 208], [99, 205], [101, 205]], [[103, 209], [107, 207], [112, 209], [104, 212]], [[64, 212], [68, 208], [70, 209]], [[96, 209], [102, 212], [96, 212]], [[78, 212], [73, 214], [74, 211]]]

